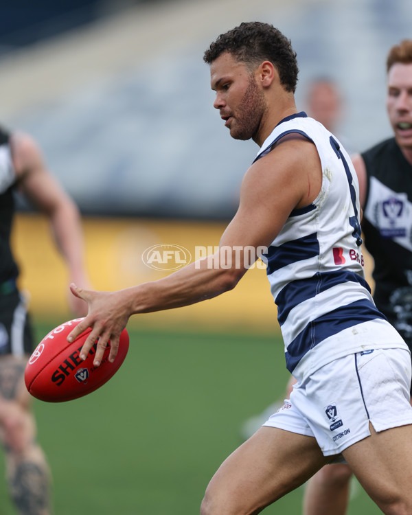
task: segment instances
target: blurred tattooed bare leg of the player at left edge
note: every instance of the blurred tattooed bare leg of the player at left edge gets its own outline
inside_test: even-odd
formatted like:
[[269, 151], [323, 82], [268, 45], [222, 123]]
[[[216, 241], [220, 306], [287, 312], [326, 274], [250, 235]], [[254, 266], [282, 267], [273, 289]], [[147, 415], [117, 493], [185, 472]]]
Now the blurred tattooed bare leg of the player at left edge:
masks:
[[13, 356], [0, 358], [0, 438], [5, 449], [8, 486], [19, 514], [49, 515], [49, 468], [36, 442], [24, 369], [25, 360]]

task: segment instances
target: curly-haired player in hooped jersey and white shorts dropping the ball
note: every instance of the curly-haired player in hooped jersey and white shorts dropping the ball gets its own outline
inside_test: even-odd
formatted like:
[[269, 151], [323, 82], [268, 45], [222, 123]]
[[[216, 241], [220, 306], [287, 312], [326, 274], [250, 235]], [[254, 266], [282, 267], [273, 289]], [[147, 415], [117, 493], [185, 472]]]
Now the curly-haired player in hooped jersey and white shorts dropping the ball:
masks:
[[110, 339], [113, 361], [132, 314], [216, 297], [263, 252], [286, 364], [298, 383], [284, 409], [220, 466], [201, 514], [257, 514], [342, 457], [385, 514], [410, 514], [410, 352], [363, 278], [350, 158], [327, 129], [297, 111], [296, 54], [272, 25], [242, 23], [204, 58], [214, 107], [231, 136], [260, 146], [238, 211], [213, 256], [168, 277], [114, 292], [71, 285], [89, 313], [68, 339], [90, 327], [80, 357], [99, 338], [100, 365]]

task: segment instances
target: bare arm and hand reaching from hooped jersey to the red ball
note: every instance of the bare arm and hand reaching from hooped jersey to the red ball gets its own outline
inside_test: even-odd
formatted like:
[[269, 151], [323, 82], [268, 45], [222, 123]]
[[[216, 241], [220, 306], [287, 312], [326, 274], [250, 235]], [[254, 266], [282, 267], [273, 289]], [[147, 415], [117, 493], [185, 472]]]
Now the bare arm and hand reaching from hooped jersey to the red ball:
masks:
[[[113, 361], [119, 334], [131, 314], [187, 306], [234, 288], [248, 269], [244, 264], [249, 256], [244, 260], [242, 249], [254, 249], [251, 261], [258, 258], [259, 249], [269, 247], [290, 211], [316, 198], [320, 184], [320, 161], [314, 145], [308, 141], [284, 141], [245, 174], [239, 209], [222, 235], [218, 252], [211, 258], [185, 266], [158, 281], [114, 292], [87, 291], [72, 285], [73, 295], [89, 304], [89, 314], [69, 334], [69, 340], [91, 327], [82, 356], [99, 339], [95, 354], [95, 365], [98, 365], [110, 339], [109, 359]], [[220, 262], [223, 248], [231, 251], [230, 266]]]

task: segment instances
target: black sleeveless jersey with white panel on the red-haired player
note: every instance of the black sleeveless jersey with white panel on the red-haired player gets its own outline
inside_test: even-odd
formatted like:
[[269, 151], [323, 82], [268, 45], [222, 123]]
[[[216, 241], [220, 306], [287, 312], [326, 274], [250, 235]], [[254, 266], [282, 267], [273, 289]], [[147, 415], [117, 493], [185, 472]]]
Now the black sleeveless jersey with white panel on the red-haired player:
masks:
[[412, 343], [412, 165], [394, 138], [363, 152], [365, 246], [375, 266], [374, 300]]

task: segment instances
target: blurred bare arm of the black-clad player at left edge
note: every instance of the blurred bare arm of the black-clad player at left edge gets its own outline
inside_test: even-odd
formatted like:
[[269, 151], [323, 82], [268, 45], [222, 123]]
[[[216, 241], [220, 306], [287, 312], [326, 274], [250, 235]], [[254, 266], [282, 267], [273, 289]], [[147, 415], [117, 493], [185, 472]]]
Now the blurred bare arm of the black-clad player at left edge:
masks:
[[[67, 264], [69, 282], [87, 287], [78, 207], [47, 170], [42, 152], [30, 135], [14, 133], [10, 144], [19, 190], [49, 218], [53, 240]], [[84, 314], [87, 308], [84, 302], [72, 295], [69, 301], [76, 314]]]

